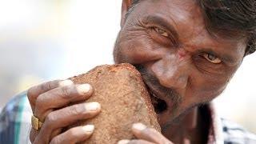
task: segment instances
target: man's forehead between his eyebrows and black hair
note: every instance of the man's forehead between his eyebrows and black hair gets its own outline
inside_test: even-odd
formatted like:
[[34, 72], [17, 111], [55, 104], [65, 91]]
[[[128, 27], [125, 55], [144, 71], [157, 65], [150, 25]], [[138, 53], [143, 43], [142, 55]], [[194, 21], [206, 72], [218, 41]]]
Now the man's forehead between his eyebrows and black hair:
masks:
[[[226, 52], [241, 59], [246, 48], [246, 39], [223, 38], [221, 34], [210, 34], [206, 30], [202, 10], [195, 0], [146, 0], [141, 3], [145, 15], [154, 15], [166, 19], [182, 35], [188, 45]], [[144, 6], [143, 6], [144, 4]], [[200, 38], [197, 38], [200, 37]]]

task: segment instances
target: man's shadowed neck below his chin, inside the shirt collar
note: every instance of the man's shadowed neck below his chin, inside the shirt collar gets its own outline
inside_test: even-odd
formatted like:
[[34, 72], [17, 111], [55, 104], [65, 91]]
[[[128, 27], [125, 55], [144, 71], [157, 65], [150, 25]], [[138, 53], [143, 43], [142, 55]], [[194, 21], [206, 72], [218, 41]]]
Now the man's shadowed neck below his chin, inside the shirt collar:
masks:
[[166, 138], [174, 143], [206, 143], [209, 123], [202, 118], [198, 107], [190, 110], [179, 122], [174, 122], [169, 128], [163, 131]]

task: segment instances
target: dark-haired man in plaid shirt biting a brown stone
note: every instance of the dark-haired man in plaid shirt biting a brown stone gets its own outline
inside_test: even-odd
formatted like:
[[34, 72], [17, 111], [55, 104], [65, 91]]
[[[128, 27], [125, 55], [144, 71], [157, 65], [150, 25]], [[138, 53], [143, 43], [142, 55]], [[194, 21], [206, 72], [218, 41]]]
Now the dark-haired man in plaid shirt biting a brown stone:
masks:
[[[154, 108], [162, 134], [135, 123], [132, 130], [137, 139], [118, 143], [256, 143], [254, 134], [218, 119], [210, 106], [242, 59], [255, 50], [255, 15], [254, 0], [123, 0], [114, 62], [129, 62], [141, 72], [158, 102]], [[69, 80], [30, 88], [23, 94], [34, 114], [30, 141], [86, 141], [94, 126], [65, 132], [62, 128], [100, 113], [98, 102], [67, 106], [85, 101], [93, 90], [88, 84], [74, 85]], [[20, 97], [17, 99], [24, 98]], [[5, 137], [1, 137], [9, 142], [22, 129], [10, 123], [10, 119], [17, 119], [10, 113], [16, 108], [10, 105], [20, 102], [17, 99], [1, 116], [1, 122], [6, 120], [6, 128], [0, 130]], [[18, 110], [24, 109], [18, 104]]]

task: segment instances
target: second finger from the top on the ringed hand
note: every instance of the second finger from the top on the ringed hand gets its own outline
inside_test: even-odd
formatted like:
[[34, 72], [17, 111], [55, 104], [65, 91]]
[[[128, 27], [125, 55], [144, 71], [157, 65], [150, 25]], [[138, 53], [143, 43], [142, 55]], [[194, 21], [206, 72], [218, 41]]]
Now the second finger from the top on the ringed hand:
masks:
[[53, 109], [58, 109], [70, 104], [86, 100], [92, 94], [93, 89], [89, 84], [70, 85], [55, 88], [40, 94], [36, 100], [34, 115], [44, 121], [46, 115]]

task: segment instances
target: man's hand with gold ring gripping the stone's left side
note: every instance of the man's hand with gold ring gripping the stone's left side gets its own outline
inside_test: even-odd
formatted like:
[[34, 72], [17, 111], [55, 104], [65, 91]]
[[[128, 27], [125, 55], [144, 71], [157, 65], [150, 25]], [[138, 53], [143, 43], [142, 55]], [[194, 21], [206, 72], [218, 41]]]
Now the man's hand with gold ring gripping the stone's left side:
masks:
[[[98, 102], [85, 102], [93, 89], [89, 84], [74, 85], [70, 80], [52, 81], [27, 92], [33, 114], [43, 122], [40, 130], [30, 131], [32, 143], [76, 143], [90, 137], [94, 126], [77, 126], [62, 133], [62, 128], [79, 120], [93, 118], [100, 110]], [[79, 103], [73, 104], [71, 103]], [[62, 134], [61, 134], [62, 133]]]

